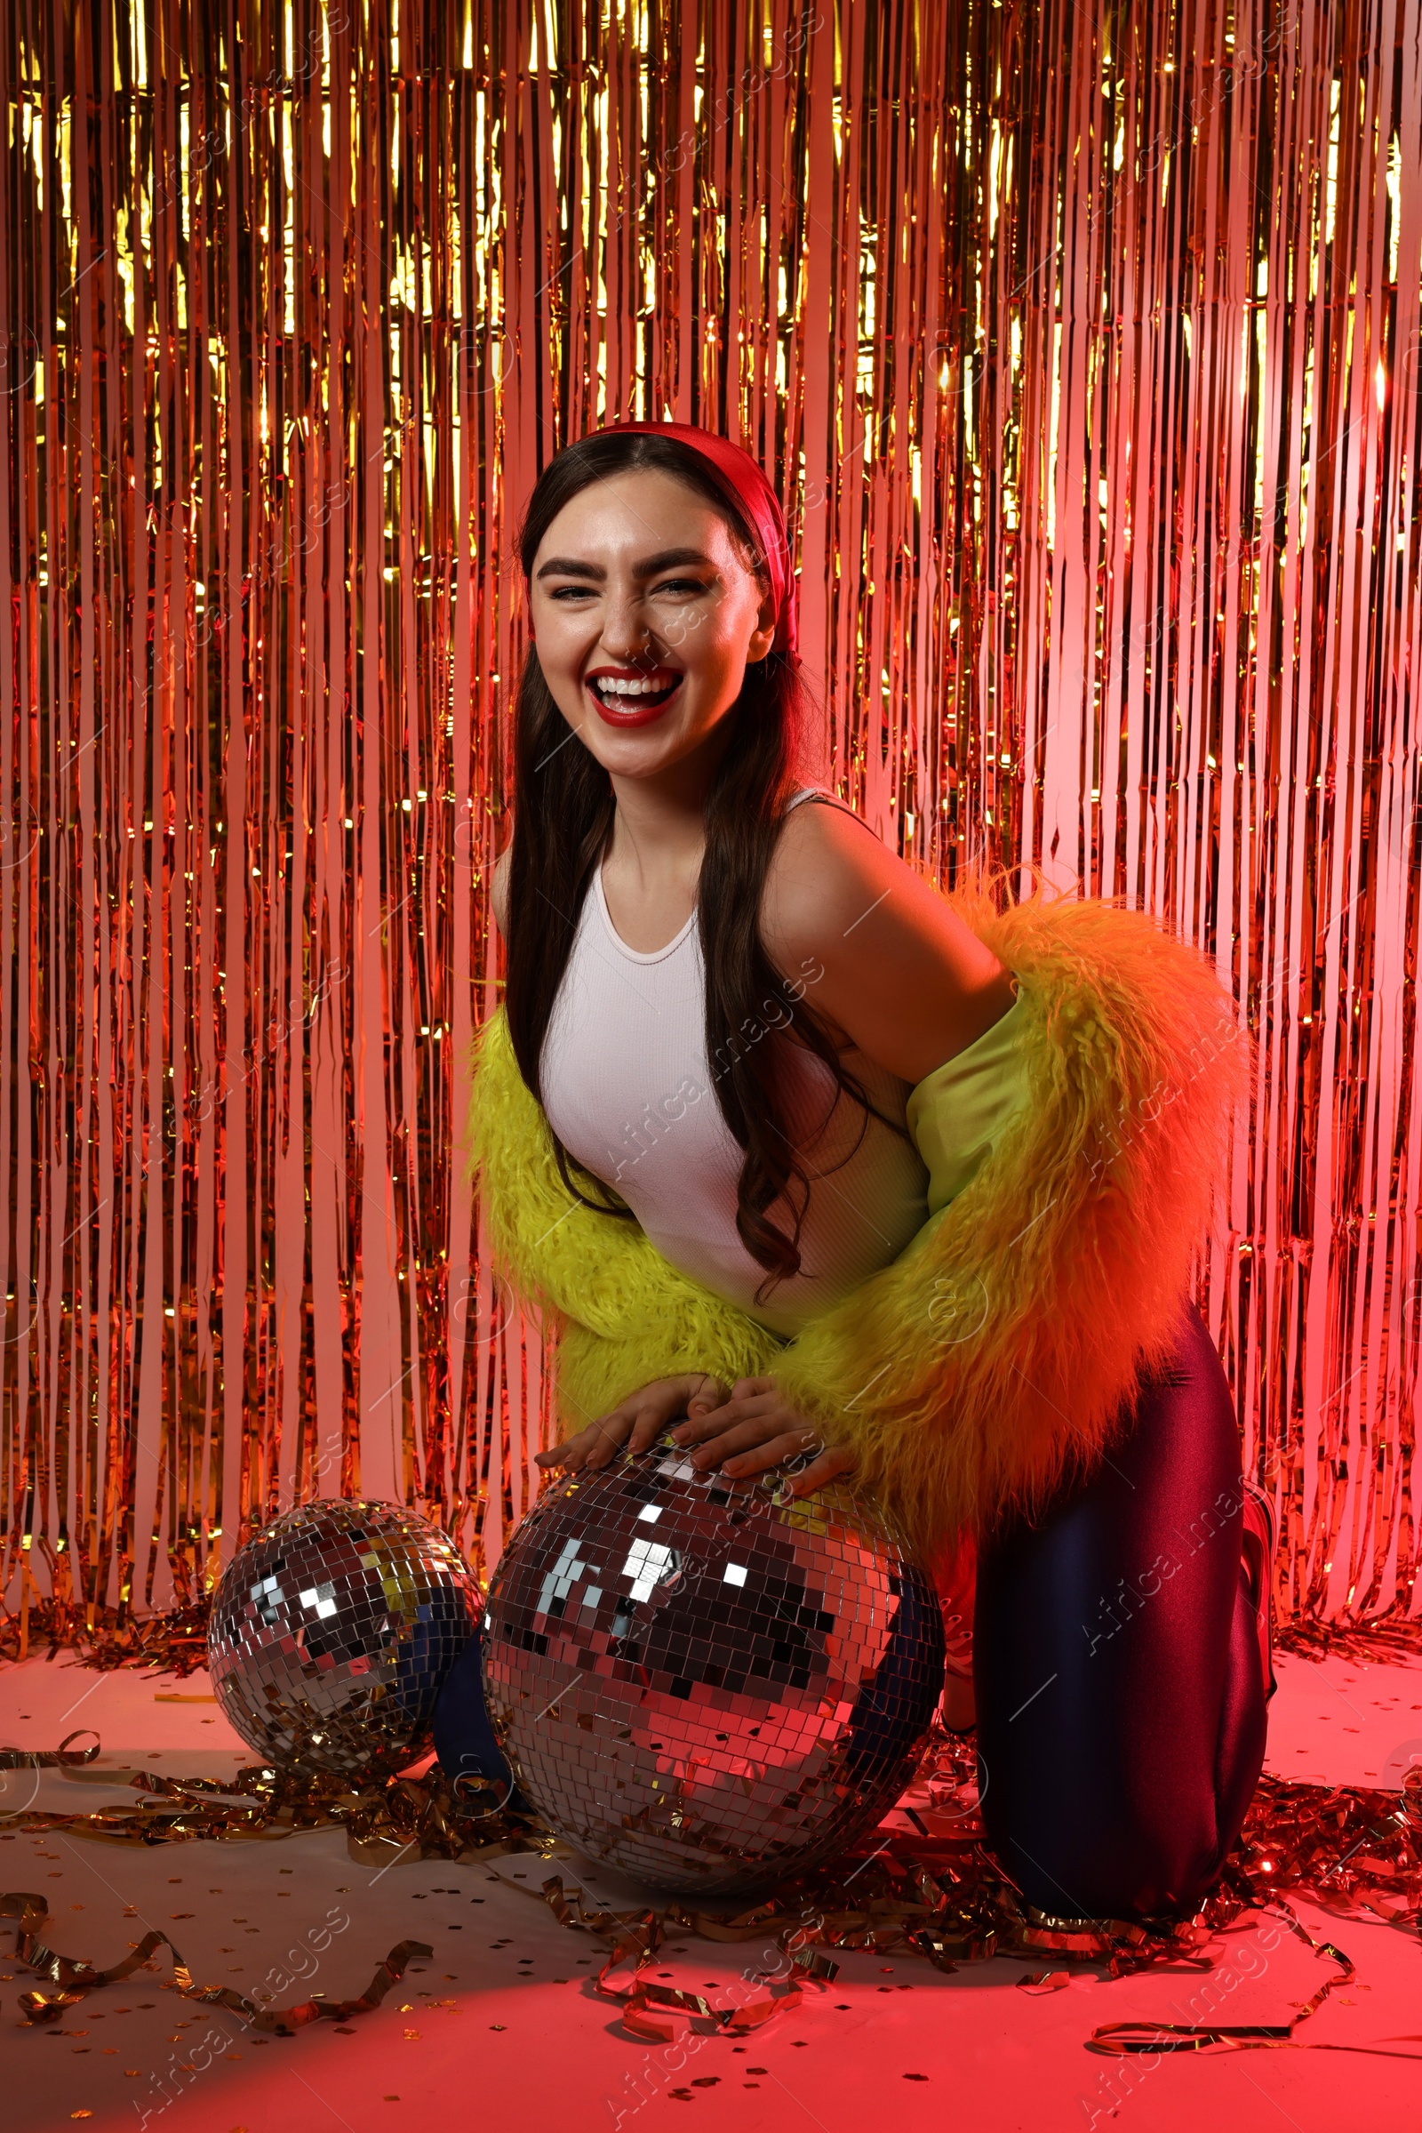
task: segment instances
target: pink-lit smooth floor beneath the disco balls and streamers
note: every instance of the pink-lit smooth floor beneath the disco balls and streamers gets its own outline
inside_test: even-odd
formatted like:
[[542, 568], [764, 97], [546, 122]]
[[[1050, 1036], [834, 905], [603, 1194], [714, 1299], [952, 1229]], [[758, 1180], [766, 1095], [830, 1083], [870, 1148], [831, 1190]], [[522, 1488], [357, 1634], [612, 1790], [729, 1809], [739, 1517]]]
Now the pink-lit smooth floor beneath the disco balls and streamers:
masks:
[[[1422, 1666], [1290, 1657], [1279, 1677], [1269, 1745], [1279, 1775], [1399, 1785], [1422, 1760]], [[55, 2031], [21, 2020], [19, 1992], [34, 1979], [11, 1960], [6, 1924], [6, 2129], [58, 2133], [87, 2120], [94, 2133], [655, 2133], [684, 2116], [738, 2133], [863, 2133], [883, 2122], [912, 2133], [1422, 2124], [1422, 1947], [1416, 1935], [1318, 1905], [1296, 1909], [1318, 1939], [1354, 1958], [1358, 1977], [1279, 2050], [1134, 2063], [1085, 2050], [1100, 2022], [1288, 2020], [1322, 1973], [1262, 1915], [1217, 1941], [1209, 1973], [1111, 1982], [1074, 1964], [1070, 1984], [1049, 1994], [1017, 1986], [1028, 1969], [1019, 1960], [942, 1975], [917, 1960], [846, 1954], [834, 1986], [750, 2037], [682, 2031], [672, 2046], [648, 2046], [629, 2039], [616, 2007], [591, 1990], [601, 1943], [565, 1930], [524, 1894], [548, 1871], [531, 1858], [499, 1860], [495, 1879], [475, 1862], [354, 1864], [339, 1832], [143, 1851], [6, 1832], [4, 1819], [32, 1796], [55, 1809], [122, 1798], [104, 1770], [141, 1764], [217, 1777], [249, 1760], [205, 1674], [100, 1674], [64, 1659], [0, 1668], [0, 1741], [55, 1747], [79, 1726], [104, 1747], [83, 1777], [0, 1773], [0, 1888], [47, 1896], [47, 1937], [64, 1954], [115, 1962], [158, 1926], [198, 1982], [254, 1992], [290, 1977], [286, 2001], [362, 1992], [401, 1939], [433, 1943], [435, 1956], [416, 1960], [375, 2014], [262, 2039], [239, 2016], [181, 2001], [160, 1950], [158, 1969], [92, 1992]], [[578, 1877], [573, 1862], [563, 1873]], [[640, 1894], [612, 1875], [580, 1879], [597, 1898]], [[669, 1984], [716, 1999], [740, 1986], [755, 1954], [682, 1939], [661, 1969]]]

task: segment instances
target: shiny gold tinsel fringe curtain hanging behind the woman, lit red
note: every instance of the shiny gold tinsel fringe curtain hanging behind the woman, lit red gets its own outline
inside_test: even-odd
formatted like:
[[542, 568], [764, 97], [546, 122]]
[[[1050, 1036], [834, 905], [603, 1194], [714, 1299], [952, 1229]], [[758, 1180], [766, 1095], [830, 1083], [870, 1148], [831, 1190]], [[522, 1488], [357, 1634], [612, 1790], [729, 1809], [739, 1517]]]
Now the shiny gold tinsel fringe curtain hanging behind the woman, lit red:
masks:
[[11, 1613], [527, 1506], [458, 1120], [512, 525], [616, 414], [774, 469], [895, 849], [1245, 1000], [1200, 1271], [1283, 1602], [1407, 1610], [1422, 0], [9, 0], [0, 68]]

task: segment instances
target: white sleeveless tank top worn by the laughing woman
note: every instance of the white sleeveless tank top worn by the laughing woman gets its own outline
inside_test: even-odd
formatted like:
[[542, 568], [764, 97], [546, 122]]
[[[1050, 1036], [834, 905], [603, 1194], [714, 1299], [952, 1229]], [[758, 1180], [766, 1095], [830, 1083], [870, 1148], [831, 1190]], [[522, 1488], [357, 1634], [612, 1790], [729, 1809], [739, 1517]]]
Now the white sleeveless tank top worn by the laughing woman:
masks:
[[[812, 798], [821, 796], [795, 793], [791, 806]], [[812, 985], [806, 996], [814, 996]], [[787, 1013], [793, 1003], [778, 994], [767, 1000], [761, 1028]], [[753, 1043], [767, 1041], [746, 1035]], [[548, 1122], [569, 1154], [627, 1201], [663, 1258], [770, 1331], [791, 1335], [898, 1258], [927, 1220], [927, 1171], [910, 1141], [872, 1116], [866, 1120], [823, 1060], [785, 1037], [774, 1041], [787, 1126], [810, 1180], [810, 1201], [799, 1229], [799, 1273], [757, 1303], [767, 1269], [736, 1231], [744, 1152], [716, 1103], [716, 1073], [725, 1066], [714, 1069], [706, 1047], [697, 915], [691, 913], [676, 941], [640, 953], [616, 934], [601, 866], [595, 870], [544, 1041]], [[844, 1064], [870, 1101], [902, 1124], [908, 1084], [861, 1052], [849, 1052]], [[770, 1216], [791, 1233], [785, 1201]]]

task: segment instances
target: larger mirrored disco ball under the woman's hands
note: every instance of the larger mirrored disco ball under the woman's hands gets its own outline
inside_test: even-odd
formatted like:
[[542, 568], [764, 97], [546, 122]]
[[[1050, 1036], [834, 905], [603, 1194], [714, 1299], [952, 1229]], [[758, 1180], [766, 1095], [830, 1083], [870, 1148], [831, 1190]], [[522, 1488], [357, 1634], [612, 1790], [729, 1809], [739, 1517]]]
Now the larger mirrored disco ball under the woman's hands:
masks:
[[744, 1890], [834, 1856], [912, 1779], [934, 1587], [846, 1487], [776, 1502], [663, 1440], [539, 1497], [484, 1615], [518, 1783], [588, 1858]]

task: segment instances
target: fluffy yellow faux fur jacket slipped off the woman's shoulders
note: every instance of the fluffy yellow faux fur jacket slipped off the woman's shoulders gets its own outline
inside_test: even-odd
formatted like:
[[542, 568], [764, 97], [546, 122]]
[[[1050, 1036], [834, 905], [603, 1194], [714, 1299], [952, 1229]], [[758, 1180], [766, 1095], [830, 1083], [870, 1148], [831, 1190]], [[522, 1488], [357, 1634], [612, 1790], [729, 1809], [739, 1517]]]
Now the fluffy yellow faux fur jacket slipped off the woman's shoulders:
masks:
[[1179, 1331], [1249, 1086], [1228, 994], [1153, 919], [1040, 892], [998, 909], [981, 885], [949, 900], [1017, 975], [1025, 1101], [908, 1248], [791, 1342], [567, 1192], [503, 1009], [469, 1109], [490, 1256], [556, 1335], [569, 1429], [652, 1378], [772, 1376], [925, 1557], [1038, 1506], [1124, 1427]]

